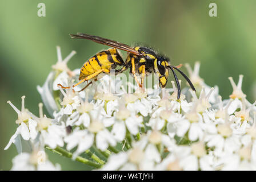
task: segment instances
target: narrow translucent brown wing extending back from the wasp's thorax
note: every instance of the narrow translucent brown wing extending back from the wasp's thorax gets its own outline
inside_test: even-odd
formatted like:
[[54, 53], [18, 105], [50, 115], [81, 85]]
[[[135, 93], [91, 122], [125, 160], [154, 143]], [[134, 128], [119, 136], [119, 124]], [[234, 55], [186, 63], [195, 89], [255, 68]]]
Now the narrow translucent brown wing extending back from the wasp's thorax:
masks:
[[97, 42], [99, 44], [104, 44], [110, 47], [114, 47], [117, 49], [121, 49], [123, 51], [127, 51], [130, 53], [133, 53], [134, 55], [141, 55], [138, 51], [136, 51], [134, 48], [123, 44], [119, 43], [114, 40], [106, 39], [106, 38], [101, 38], [99, 36], [94, 36], [94, 35], [88, 35], [88, 34], [83, 34], [83, 33], [77, 33], [77, 34], [70, 34], [72, 39], [88, 39], [88, 40], [93, 40], [94, 42]]

